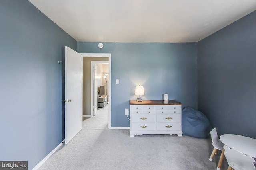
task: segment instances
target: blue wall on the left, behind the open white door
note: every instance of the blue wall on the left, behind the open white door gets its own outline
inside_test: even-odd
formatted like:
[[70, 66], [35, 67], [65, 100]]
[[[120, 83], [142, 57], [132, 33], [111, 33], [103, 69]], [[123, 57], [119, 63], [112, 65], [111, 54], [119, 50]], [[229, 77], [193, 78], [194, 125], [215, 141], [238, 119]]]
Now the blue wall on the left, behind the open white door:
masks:
[[63, 139], [62, 49], [77, 42], [28, 0], [0, 2], [0, 160], [32, 169]]

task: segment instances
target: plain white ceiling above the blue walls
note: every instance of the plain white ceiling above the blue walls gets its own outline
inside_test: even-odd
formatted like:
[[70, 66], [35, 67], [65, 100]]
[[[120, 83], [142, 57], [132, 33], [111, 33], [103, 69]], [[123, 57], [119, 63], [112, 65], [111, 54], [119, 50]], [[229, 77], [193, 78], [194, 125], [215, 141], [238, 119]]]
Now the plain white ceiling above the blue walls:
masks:
[[256, 0], [29, 0], [77, 41], [198, 42]]

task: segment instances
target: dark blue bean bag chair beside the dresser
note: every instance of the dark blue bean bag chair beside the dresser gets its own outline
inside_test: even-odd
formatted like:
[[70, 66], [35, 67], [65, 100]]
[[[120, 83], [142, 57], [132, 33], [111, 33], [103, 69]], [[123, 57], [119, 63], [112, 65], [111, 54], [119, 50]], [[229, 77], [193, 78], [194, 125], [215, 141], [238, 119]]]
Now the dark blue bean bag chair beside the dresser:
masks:
[[197, 138], [210, 137], [210, 122], [201, 111], [191, 107], [182, 110], [182, 132]]

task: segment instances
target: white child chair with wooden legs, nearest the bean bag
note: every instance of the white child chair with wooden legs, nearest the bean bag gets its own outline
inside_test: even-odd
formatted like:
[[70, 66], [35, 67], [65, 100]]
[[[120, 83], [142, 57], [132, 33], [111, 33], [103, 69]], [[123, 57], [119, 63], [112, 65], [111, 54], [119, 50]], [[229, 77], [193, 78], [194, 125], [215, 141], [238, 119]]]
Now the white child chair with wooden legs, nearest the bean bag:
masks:
[[212, 161], [214, 154], [217, 154], [218, 150], [222, 151], [224, 144], [220, 141], [220, 139], [218, 139], [216, 127], [214, 127], [210, 133], [212, 137], [212, 146], [214, 147], [209, 158], [209, 160]]

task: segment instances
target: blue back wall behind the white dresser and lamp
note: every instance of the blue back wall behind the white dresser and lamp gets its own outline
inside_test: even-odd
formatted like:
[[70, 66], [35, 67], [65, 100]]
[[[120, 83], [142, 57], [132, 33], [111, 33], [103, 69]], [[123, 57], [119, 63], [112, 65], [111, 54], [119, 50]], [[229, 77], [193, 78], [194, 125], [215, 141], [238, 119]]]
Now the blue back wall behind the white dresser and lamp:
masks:
[[[169, 99], [197, 109], [196, 43], [98, 43], [78, 42], [79, 53], [111, 53], [111, 126], [129, 127], [124, 115], [135, 86], [144, 86], [144, 99]], [[119, 84], [116, 84], [119, 79]]]

